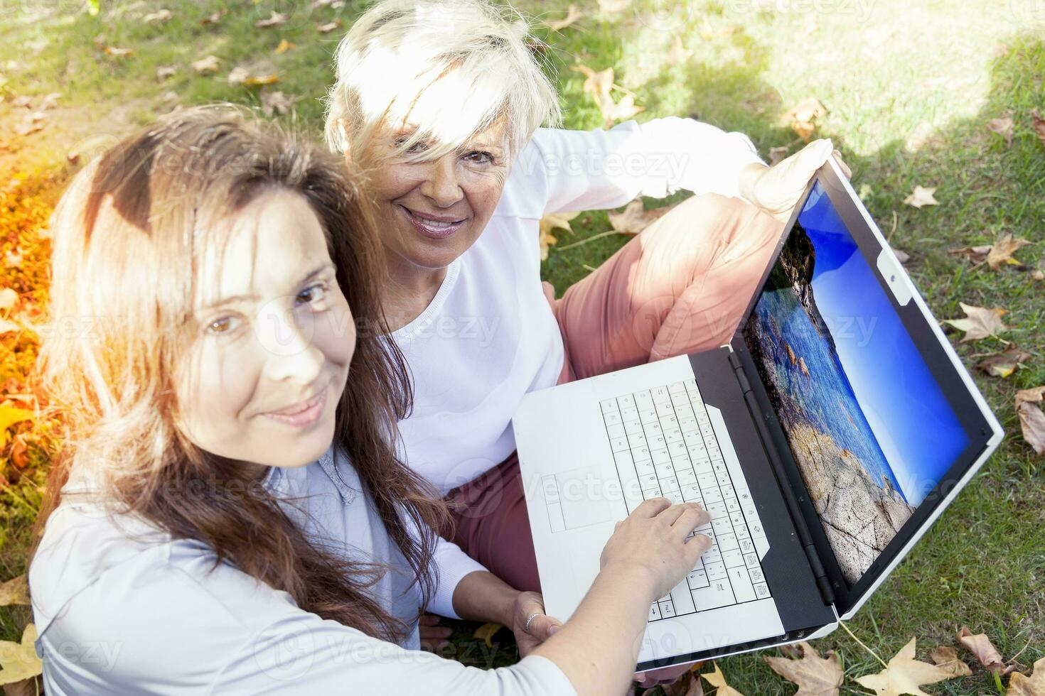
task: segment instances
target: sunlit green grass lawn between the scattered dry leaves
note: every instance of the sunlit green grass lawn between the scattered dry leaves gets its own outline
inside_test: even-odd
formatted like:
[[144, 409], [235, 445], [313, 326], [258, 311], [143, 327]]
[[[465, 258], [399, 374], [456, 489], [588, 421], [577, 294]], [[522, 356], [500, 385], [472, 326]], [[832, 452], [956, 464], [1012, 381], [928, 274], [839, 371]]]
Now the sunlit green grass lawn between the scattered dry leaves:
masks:
[[[265, 89], [303, 97], [297, 121], [318, 133], [318, 99], [330, 79], [339, 34], [321, 35], [316, 26], [335, 17], [348, 25], [359, 11], [351, 2], [341, 9], [309, 10], [306, 4], [283, 27], [255, 29], [254, 21], [268, 17], [271, 2], [171, 4], [176, 17], [162, 26], [141, 20], [162, 6], [152, 0], [137, 8], [120, 4], [107, 10], [102, 4], [102, 16], [94, 18], [29, 17], [24, 9], [0, 18], [0, 68], [7, 66], [0, 90], [10, 96], [63, 94], [44, 131], [24, 141], [6, 139], [0, 165], [24, 169], [53, 162], [66, 168], [65, 152], [84, 139], [121, 135], [169, 110], [175, 102], [164, 99], [168, 91], [186, 105], [215, 99], [257, 103], [257, 89], [227, 85], [225, 76], [237, 65], [256, 74], [278, 72], [280, 85]], [[531, 0], [520, 6], [558, 19], [566, 4]], [[1045, 284], [1017, 268], [972, 268], [947, 251], [1011, 232], [1034, 242], [1017, 254], [1023, 263], [1034, 266], [1045, 254], [1045, 148], [1030, 128], [1030, 111], [1045, 112], [1045, 15], [1034, 14], [1034, 0], [819, 3], [869, 10], [825, 13], [810, 31], [810, 16], [788, 9], [809, 3], [636, 0], [633, 9], [612, 17], [599, 15], [595, 0], [577, 4], [588, 16], [575, 27], [557, 33], [538, 29], [551, 45], [548, 56], [559, 75], [567, 127], [602, 123], [581, 92], [583, 76], [570, 70], [576, 63], [596, 70], [613, 67], [618, 83], [634, 92], [646, 109], [640, 120], [694, 116], [749, 134], [764, 155], [770, 147], [794, 151], [802, 146], [782, 114], [805, 97], [816, 97], [828, 110], [818, 135], [831, 137], [842, 150], [872, 214], [891, 243], [911, 255], [910, 273], [933, 312], [940, 318], [960, 316], [958, 302], [1011, 310], [1011, 330], [1002, 338], [1034, 359], [1007, 380], [976, 375], [1005, 427], [1001, 449], [850, 627], [885, 658], [916, 635], [920, 657], [926, 658], [937, 644], [956, 645], [956, 630], [968, 624], [974, 632], [986, 632], [1006, 657], [1022, 650], [1020, 662], [1030, 665], [1045, 654], [1045, 484], [1043, 460], [1019, 435], [1013, 395], [1018, 388], [1045, 383]], [[219, 25], [200, 25], [201, 18], [223, 5], [229, 14]], [[92, 43], [99, 33], [107, 44], [134, 48], [136, 54], [101, 54]], [[668, 65], [675, 35], [694, 51], [684, 65]], [[274, 55], [281, 38], [298, 48]], [[32, 55], [25, 47], [38, 41], [46, 45]], [[188, 64], [208, 53], [223, 59], [220, 72], [193, 74]], [[20, 65], [11, 69], [9, 61]], [[180, 72], [158, 82], [160, 65], [179, 66]], [[1006, 113], [1016, 121], [1012, 146], [984, 127], [986, 120]], [[9, 100], [0, 103], [3, 122], [16, 115]], [[921, 211], [904, 206], [915, 185], [937, 187], [940, 205]], [[574, 227], [560, 244], [609, 225], [605, 213], [591, 212], [578, 217]], [[561, 293], [625, 241], [609, 236], [561, 253], [553, 248], [543, 275]], [[953, 336], [956, 344], [958, 337]], [[975, 353], [1003, 347], [998, 339], [957, 345], [970, 365]], [[0, 560], [14, 575], [24, 568], [19, 530], [30, 519], [31, 501], [28, 507], [5, 503], [8, 529], [0, 537]], [[28, 615], [5, 611], [0, 609], [0, 631], [10, 639]], [[491, 650], [469, 640], [473, 628], [457, 626], [454, 655], [482, 666], [515, 659], [507, 631], [495, 637], [500, 643]], [[879, 669], [844, 631], [817, 647], [839, 651], [851, 675]], [[794, 692], [760, 654], [726, 658], [721, 667], [729, 682], [749, 696]], [[982, 670], [928, 690], [995, 693]], [[846, 681], [843, 693], [864, 692]]]

